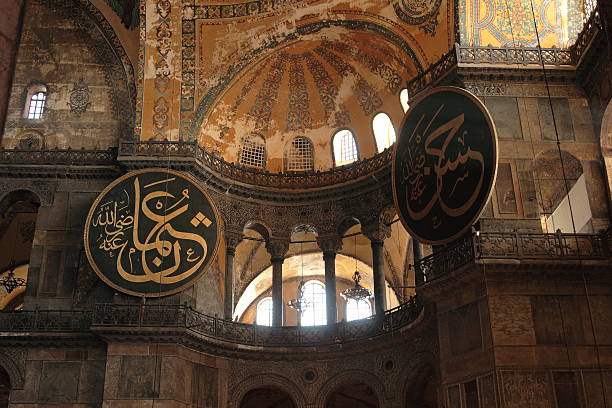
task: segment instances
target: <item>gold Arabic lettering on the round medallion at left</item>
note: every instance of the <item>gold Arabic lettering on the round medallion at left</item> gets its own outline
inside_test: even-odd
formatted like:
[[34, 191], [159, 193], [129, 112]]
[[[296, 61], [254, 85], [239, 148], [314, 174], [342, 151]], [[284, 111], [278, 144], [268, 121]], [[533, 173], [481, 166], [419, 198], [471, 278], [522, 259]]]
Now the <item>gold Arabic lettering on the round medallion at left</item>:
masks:
[[[133, 204], [124, 190], [122, 199], [100, 205], [92, 218], [92, 227], [103, 228], [98, 235], [98, 249], [116, 257], [119, 276], [129, 282], [181, 282], [196, 273], [205, 261], [208, 252], [206, 240], [196, 233], [173, 227], [173, 221], [176, 222], [190, 206], [188, 188], [181, 191], [180, 197], [168, 192], [167, 185], [174, 180], [168, 178], [149, 183], [141, 191], [140, 180], [135, 177]], [[149, 192], [152, 187], [164, 183], [165, 189]], [[194, 228], [200, 225], [206, 228], [212, 221], [198, 212], [191, 224]], [[141, 234], [145, 235], [144, 239]], [[169, 265], [164, 265], [167, 263]], [[186, 270], [180, 270], [181, 267]]]

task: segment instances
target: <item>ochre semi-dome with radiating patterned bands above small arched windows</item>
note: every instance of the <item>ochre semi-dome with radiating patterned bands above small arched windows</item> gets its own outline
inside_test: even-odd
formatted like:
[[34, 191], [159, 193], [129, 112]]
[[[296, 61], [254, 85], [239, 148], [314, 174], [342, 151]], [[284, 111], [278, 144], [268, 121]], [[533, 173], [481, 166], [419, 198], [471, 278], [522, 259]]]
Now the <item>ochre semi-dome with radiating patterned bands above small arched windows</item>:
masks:
[[333, 167], [332, 137], [353, 132], [359, 158], [376, 153], [372, 118], [388, 114], [397, 127], [399, 93], [416, 74], [409, 56], [380, 34], [334, 27], [262, 56], [238, 75], [205, 118], [199, 143], [238, 162], [246, 140], [265, 145], [265, 169], [283, 171], [295, 137], [313, 146], [314, 170]]

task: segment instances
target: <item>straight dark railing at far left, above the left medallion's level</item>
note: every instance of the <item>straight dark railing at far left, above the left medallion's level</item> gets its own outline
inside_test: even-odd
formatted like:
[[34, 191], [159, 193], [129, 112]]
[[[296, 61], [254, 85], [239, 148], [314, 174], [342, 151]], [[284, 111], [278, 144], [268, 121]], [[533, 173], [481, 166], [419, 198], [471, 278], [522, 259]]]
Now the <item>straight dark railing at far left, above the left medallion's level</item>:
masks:
[[0, 148], [0, 164], [36, 164], [36, 165], [108, 165], [117, 157], [116, 149], [3, 149]]

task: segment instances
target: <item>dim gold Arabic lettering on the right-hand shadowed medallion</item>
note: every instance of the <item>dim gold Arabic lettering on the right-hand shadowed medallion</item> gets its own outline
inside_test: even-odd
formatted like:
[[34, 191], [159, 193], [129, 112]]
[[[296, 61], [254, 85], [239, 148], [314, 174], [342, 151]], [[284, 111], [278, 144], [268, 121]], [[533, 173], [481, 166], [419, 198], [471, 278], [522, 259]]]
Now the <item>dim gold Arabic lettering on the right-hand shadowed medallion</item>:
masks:
[[[406, 202], [408, 203], [406, 207], [408, 214], [415, 221], [424, 219], [432, 211], [436, 203], [439, 203], [442, 212], [448, 216], [459, 217], [465, 214], [468, 210], [470, 210], [478, 198], [483, 185], [485, 160], [482, 153], [473, 150], [467, 145], [467, 130], [464, 130], [461, 135], [457, 135], [457, 132], [459, 132], [460, 128], [464, 124], [464, 114], [460, 114], [452, 118], [451, 120], [432, 130], [429, 134], [427, 133], [443, 109], [444, 105], [441, 105], [422, 132], [420, 131], [421, 124], [425, 120], [426, 114], [424, 113], [421, 115], [417, 125], [414, 128], [414, 131], [408, 139], [409, 148], [404, 152], [402, 157], [402, 182], [404, 184], [407, 183], [410, 186], [406, 189]], [[445, 134], [446, 137], [443, 140], [442, 146], [436, 147], [435, 142], [437, 139]], [[426, 137], [425, 143], [421, 144], [423, 137]], [[457, 153], [457, 157], [455, 159], [451, 159], [447, 155], [451, 144], [453, 148], [456, 148], [457, 144], [459, 145], [459, 152]], [[437, 158], [432, 167], [426, 166], [427, 156]], [[480, 163], [480, 174], [478, 175], [478, 181], [475, 185], [470, 185], [473, 190], [469, 198], [464, 200], [461, 205], [453, 207], [446, 202], [445, 195], [447, 197], [453, 196], [455, 192], [458, 191], [457, 189], [461, 188], [460, 183], [470, 177], [470, 170], [466, 167], [460, 169], [463, 174], [456, 178], [454, 184], [450, 187], [450, 191], [448, 191], [445, 186], [445, 176], [449, 172], [457, 171], [460, 165], [464, 165], [470, 160], [475, 160]], [[426, 177], [432, 175], [432, 172], [436, 179], [435, 192], [431, 194], [429, 201], [423, 205], [423, 199], [425, 198], [424, 193], [427, 190], [428, 185], [426, 183]], [[420, 209], [413, 209], [411, 203], [421, 204], [418, 206]], [[438, 228], [441, 222], [440, 217], [435, 215], [433, 217], [434, 229]]]

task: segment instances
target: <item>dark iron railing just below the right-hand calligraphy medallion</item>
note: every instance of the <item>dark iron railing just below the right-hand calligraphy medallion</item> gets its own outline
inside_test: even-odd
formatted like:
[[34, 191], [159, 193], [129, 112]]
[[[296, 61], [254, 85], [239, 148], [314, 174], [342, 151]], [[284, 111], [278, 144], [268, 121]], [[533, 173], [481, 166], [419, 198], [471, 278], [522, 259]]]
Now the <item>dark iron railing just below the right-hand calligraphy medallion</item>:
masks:
[[612, 233], [533, 234], [483, 232], [417, 261], [427, 281], [481, 259], [605, 260], [612, 257]]

